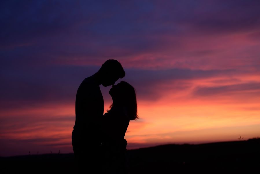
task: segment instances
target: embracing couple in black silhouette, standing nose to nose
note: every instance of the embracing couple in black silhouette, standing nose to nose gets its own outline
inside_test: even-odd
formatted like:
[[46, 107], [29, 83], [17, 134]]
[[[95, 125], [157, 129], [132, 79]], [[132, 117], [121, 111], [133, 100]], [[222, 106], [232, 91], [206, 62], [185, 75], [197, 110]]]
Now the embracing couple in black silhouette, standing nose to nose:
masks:
[[[78, 88], [72, 146], [79, 173], [128, 173], [124, 136], [130, 120], [138, 116], [134, 88], [125, 81], [114, 86], [124, 76], [122, 65], [110, 59]], [[109, 91], [113, 103], [104, 115], [101, 84], [113, 86]]]

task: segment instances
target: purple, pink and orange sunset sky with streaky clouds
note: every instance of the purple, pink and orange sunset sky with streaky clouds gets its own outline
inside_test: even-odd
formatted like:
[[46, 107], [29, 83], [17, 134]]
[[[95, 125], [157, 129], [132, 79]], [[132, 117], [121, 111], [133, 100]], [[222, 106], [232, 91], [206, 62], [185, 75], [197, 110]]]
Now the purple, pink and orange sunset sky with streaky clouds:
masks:
[[[140, 119], [127, 149], [260, 137], [260, 1], [0, 1], [0, 156], [73, 153], [75, 97], [107, 59]], [[100, 86], [104, 111], [110, 87]]]

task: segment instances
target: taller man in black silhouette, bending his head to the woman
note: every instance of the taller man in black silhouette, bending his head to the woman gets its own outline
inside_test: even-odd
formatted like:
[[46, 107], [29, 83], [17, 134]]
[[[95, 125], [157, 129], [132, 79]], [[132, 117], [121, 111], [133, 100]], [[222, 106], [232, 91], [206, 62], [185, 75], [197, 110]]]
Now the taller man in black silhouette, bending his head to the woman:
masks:
[[97, 73], [85, 78], [80, 84], [75, 103], [75, 125], [72, 146], [77, 171], [99, 173], [102, 163], [101, 128], [99, 118], [104, 113], [104, 100], [99, 86], [114, 85], [125, 71], [119, 61], [107, 60]]

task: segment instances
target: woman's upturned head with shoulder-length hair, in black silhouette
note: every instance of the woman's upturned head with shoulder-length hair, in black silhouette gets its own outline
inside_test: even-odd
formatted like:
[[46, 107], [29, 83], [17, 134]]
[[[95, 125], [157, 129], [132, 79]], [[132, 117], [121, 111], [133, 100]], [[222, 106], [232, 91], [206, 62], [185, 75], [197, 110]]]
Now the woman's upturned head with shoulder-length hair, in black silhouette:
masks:
[[125, 107], [130, 120], [138, 118], [135, 89], [126, 81], [121, 81], [110, 89], [109, 94], [113, 99], [113, 106]]

